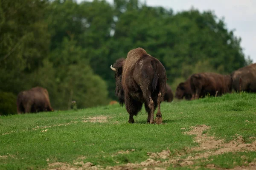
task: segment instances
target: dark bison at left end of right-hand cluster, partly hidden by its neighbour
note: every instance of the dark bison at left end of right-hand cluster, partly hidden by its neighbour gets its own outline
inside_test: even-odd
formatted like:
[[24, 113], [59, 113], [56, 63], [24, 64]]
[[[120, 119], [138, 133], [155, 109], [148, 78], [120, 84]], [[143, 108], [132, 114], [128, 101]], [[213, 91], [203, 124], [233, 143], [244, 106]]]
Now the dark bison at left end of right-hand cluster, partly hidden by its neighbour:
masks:
[[185, 82], [181, 82], [176, 88], [175, 98], [183, 99], [183, 97], [185, 97], [186, 100], [191, 100], [192, 98], [190, 77]]

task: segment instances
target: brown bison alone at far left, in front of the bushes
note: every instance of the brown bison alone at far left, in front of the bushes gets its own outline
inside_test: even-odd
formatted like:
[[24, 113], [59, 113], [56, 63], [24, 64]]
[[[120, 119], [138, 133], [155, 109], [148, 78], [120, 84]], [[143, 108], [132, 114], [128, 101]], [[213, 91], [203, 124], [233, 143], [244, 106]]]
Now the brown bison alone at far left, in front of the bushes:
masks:
[[36, 113], [40, 111], [54, 111], [50, 104], [47, 89], [35, 87], [28, 91], [21, 91], [17, 96], [17, 113]]

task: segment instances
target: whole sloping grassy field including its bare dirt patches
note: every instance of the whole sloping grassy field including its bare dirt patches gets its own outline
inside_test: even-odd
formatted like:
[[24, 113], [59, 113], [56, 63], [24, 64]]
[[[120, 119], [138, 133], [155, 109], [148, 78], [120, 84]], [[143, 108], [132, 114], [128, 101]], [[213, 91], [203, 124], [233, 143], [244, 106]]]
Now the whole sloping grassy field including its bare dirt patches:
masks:
[[0, 116], [0, 170], [254, 166], [256, 94], [163, 102], [161, 110], [162, 125], [146, 124], [144, 108], [128, 124], [118, 104]]

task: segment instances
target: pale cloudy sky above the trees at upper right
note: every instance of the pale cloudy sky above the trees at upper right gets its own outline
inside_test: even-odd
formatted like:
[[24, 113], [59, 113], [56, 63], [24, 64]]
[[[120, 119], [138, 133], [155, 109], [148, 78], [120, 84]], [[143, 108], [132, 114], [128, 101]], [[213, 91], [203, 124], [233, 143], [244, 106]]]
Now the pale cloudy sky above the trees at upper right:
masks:
[[[81, 2], [82, 0], [77, 0]], [[92, 0], [87, 0], [92, 1]], [[107, 0], [113, 3], [113, 0]], [[143, 0], [147, 6], [163, 6], [177, 11], [189, 10], [192, 6], [199, 11], [215, 11], [218, 18], [224, 17], [227, 29], [235, 30], [241, 37], [241, 47], [247, 57], [256, 62], [256, 0]]]

